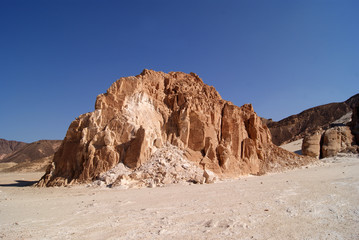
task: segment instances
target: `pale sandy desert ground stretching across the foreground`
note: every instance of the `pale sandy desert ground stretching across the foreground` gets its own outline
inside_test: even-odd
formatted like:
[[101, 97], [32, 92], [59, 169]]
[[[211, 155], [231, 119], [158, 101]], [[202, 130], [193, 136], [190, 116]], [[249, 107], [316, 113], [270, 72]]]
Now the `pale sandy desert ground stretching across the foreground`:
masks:
[[359, 157], [208, 185], [34, 188], [0, 174], [0, 239], [359, 239]]

